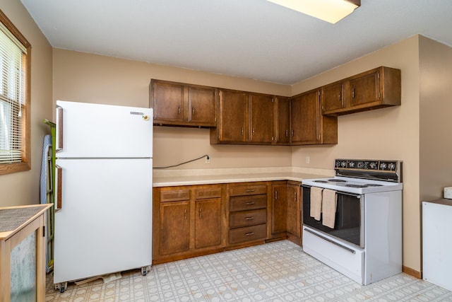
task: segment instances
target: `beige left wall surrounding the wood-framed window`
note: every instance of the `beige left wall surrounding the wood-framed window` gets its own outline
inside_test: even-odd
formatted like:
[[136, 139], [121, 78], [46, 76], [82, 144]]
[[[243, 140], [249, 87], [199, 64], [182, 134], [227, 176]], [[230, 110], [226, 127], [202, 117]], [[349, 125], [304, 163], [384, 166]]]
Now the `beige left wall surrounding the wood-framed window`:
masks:
[[40, 202], [42, 139], [52, 118], [52, 47], [20, 1], [0, 0], [0, 9], [32, 45], [31, 170], [0, 175], [0, 207]]

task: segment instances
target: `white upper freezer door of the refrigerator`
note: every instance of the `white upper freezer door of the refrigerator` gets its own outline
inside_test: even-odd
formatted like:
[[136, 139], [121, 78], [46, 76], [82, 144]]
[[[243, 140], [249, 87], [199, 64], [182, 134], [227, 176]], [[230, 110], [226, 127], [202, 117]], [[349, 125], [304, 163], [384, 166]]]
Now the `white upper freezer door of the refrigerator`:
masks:
[[152, 157], [152, 119], [151, 108], [57, 100], [57, 157]]

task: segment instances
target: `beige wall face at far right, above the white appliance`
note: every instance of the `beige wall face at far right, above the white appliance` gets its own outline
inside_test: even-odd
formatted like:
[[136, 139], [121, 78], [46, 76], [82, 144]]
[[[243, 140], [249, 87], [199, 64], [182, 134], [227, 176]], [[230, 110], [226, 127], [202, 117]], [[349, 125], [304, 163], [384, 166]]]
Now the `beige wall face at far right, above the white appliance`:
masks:
[[452, 48], [420, 37], [420, 199], [452, 186]]

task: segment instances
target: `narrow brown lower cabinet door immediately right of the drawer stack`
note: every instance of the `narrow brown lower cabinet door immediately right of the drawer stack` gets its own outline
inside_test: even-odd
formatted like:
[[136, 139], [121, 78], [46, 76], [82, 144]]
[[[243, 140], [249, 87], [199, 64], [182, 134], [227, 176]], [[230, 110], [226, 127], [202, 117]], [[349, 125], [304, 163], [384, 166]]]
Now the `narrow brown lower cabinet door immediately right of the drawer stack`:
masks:
[[271, 233], [283, 233], [287, 230], [287, 185], [272, 185]]

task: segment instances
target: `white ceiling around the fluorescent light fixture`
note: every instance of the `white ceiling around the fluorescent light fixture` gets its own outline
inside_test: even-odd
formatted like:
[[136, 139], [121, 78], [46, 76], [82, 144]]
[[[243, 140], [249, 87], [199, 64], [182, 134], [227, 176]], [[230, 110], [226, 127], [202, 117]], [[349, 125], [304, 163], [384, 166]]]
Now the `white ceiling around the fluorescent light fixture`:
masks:
[[415, 34], [451, 0], [361, 0], [336, 24], [266, 0], [21, 0], [52, 47], [291, 85]]

